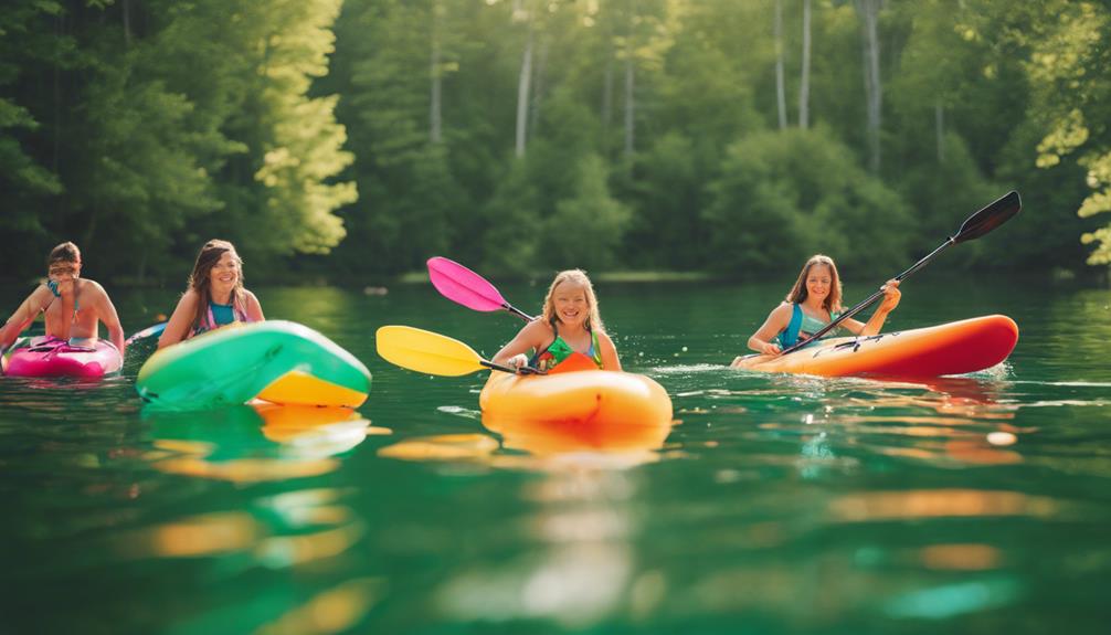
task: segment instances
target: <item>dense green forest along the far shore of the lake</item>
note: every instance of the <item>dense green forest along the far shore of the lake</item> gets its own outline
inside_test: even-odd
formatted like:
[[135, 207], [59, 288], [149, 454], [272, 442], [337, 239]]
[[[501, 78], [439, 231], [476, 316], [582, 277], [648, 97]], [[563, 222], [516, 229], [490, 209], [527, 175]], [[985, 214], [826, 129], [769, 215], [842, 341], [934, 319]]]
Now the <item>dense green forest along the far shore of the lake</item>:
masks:
[[1010, 189], [1024, 214], [939, 266], [1111, 260], [1101, 3], [9, 4], [8, 274], [72, 239], [101, 276], [178, 280], [210, 236], [256, 280], [893, 271]]

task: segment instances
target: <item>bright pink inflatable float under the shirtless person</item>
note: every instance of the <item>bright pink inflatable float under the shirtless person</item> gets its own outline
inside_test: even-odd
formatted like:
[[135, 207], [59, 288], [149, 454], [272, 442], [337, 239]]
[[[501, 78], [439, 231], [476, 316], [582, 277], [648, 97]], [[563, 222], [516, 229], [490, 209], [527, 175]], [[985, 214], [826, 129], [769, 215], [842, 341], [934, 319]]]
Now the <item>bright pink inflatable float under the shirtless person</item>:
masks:
[[123, 357], [108, 340], [80, 340], [74, 344], [58, 337], [31, 337], [4, 360], [4, 374], [97, 379], [118, 373], [123, 366]]

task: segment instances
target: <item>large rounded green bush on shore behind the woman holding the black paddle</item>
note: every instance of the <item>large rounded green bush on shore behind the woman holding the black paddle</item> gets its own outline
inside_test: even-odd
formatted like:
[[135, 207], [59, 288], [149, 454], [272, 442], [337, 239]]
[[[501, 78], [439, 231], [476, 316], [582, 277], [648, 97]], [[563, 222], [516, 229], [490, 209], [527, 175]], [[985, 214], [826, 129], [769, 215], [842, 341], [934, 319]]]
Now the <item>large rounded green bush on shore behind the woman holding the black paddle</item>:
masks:
[[892, 269], [907, 259], [907, 205], [823, 128], [739, 141], [711, 191], [710, 246], [728, 271], [793, 268], [818, 252], [847, 271]]

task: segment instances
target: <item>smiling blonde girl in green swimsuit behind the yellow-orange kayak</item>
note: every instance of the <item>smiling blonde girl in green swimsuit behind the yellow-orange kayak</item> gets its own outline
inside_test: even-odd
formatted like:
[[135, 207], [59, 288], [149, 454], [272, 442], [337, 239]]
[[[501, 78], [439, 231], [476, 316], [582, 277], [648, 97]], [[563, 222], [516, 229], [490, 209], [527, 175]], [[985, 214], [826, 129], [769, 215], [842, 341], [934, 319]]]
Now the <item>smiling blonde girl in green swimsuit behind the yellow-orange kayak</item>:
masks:
[[[531, 357], [526, 355], [529, 351]], [[621, 370], [613, 340], [605, 333], [598, 313], [594, 288], [585, 272], [578, 269], [556, 275], [544, 298], [543, 315], [521, 329], [498, 351], [493, 362], [513, 367], [528, 364], [547, 371], [572, 353], [582, 353], [599, 369]]]

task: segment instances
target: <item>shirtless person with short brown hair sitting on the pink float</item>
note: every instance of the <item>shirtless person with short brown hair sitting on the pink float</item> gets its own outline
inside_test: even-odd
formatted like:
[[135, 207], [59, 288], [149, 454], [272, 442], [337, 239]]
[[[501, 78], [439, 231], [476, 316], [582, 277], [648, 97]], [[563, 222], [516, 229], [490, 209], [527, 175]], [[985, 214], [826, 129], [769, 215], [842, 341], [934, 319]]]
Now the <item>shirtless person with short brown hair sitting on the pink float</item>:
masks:
[[[99, 323], [108, 329], [112, 345], [123, 354], [123, 326], [104, 288], [81, 278], [81, 251], [71, 242], [50, 250], [47, 281], [34, 289], [0, 327], [0, 351], [42, 313], [49, 341], [87, 345], [99, 339]], [[41, 343], [40, 343], [41, 345]]]

